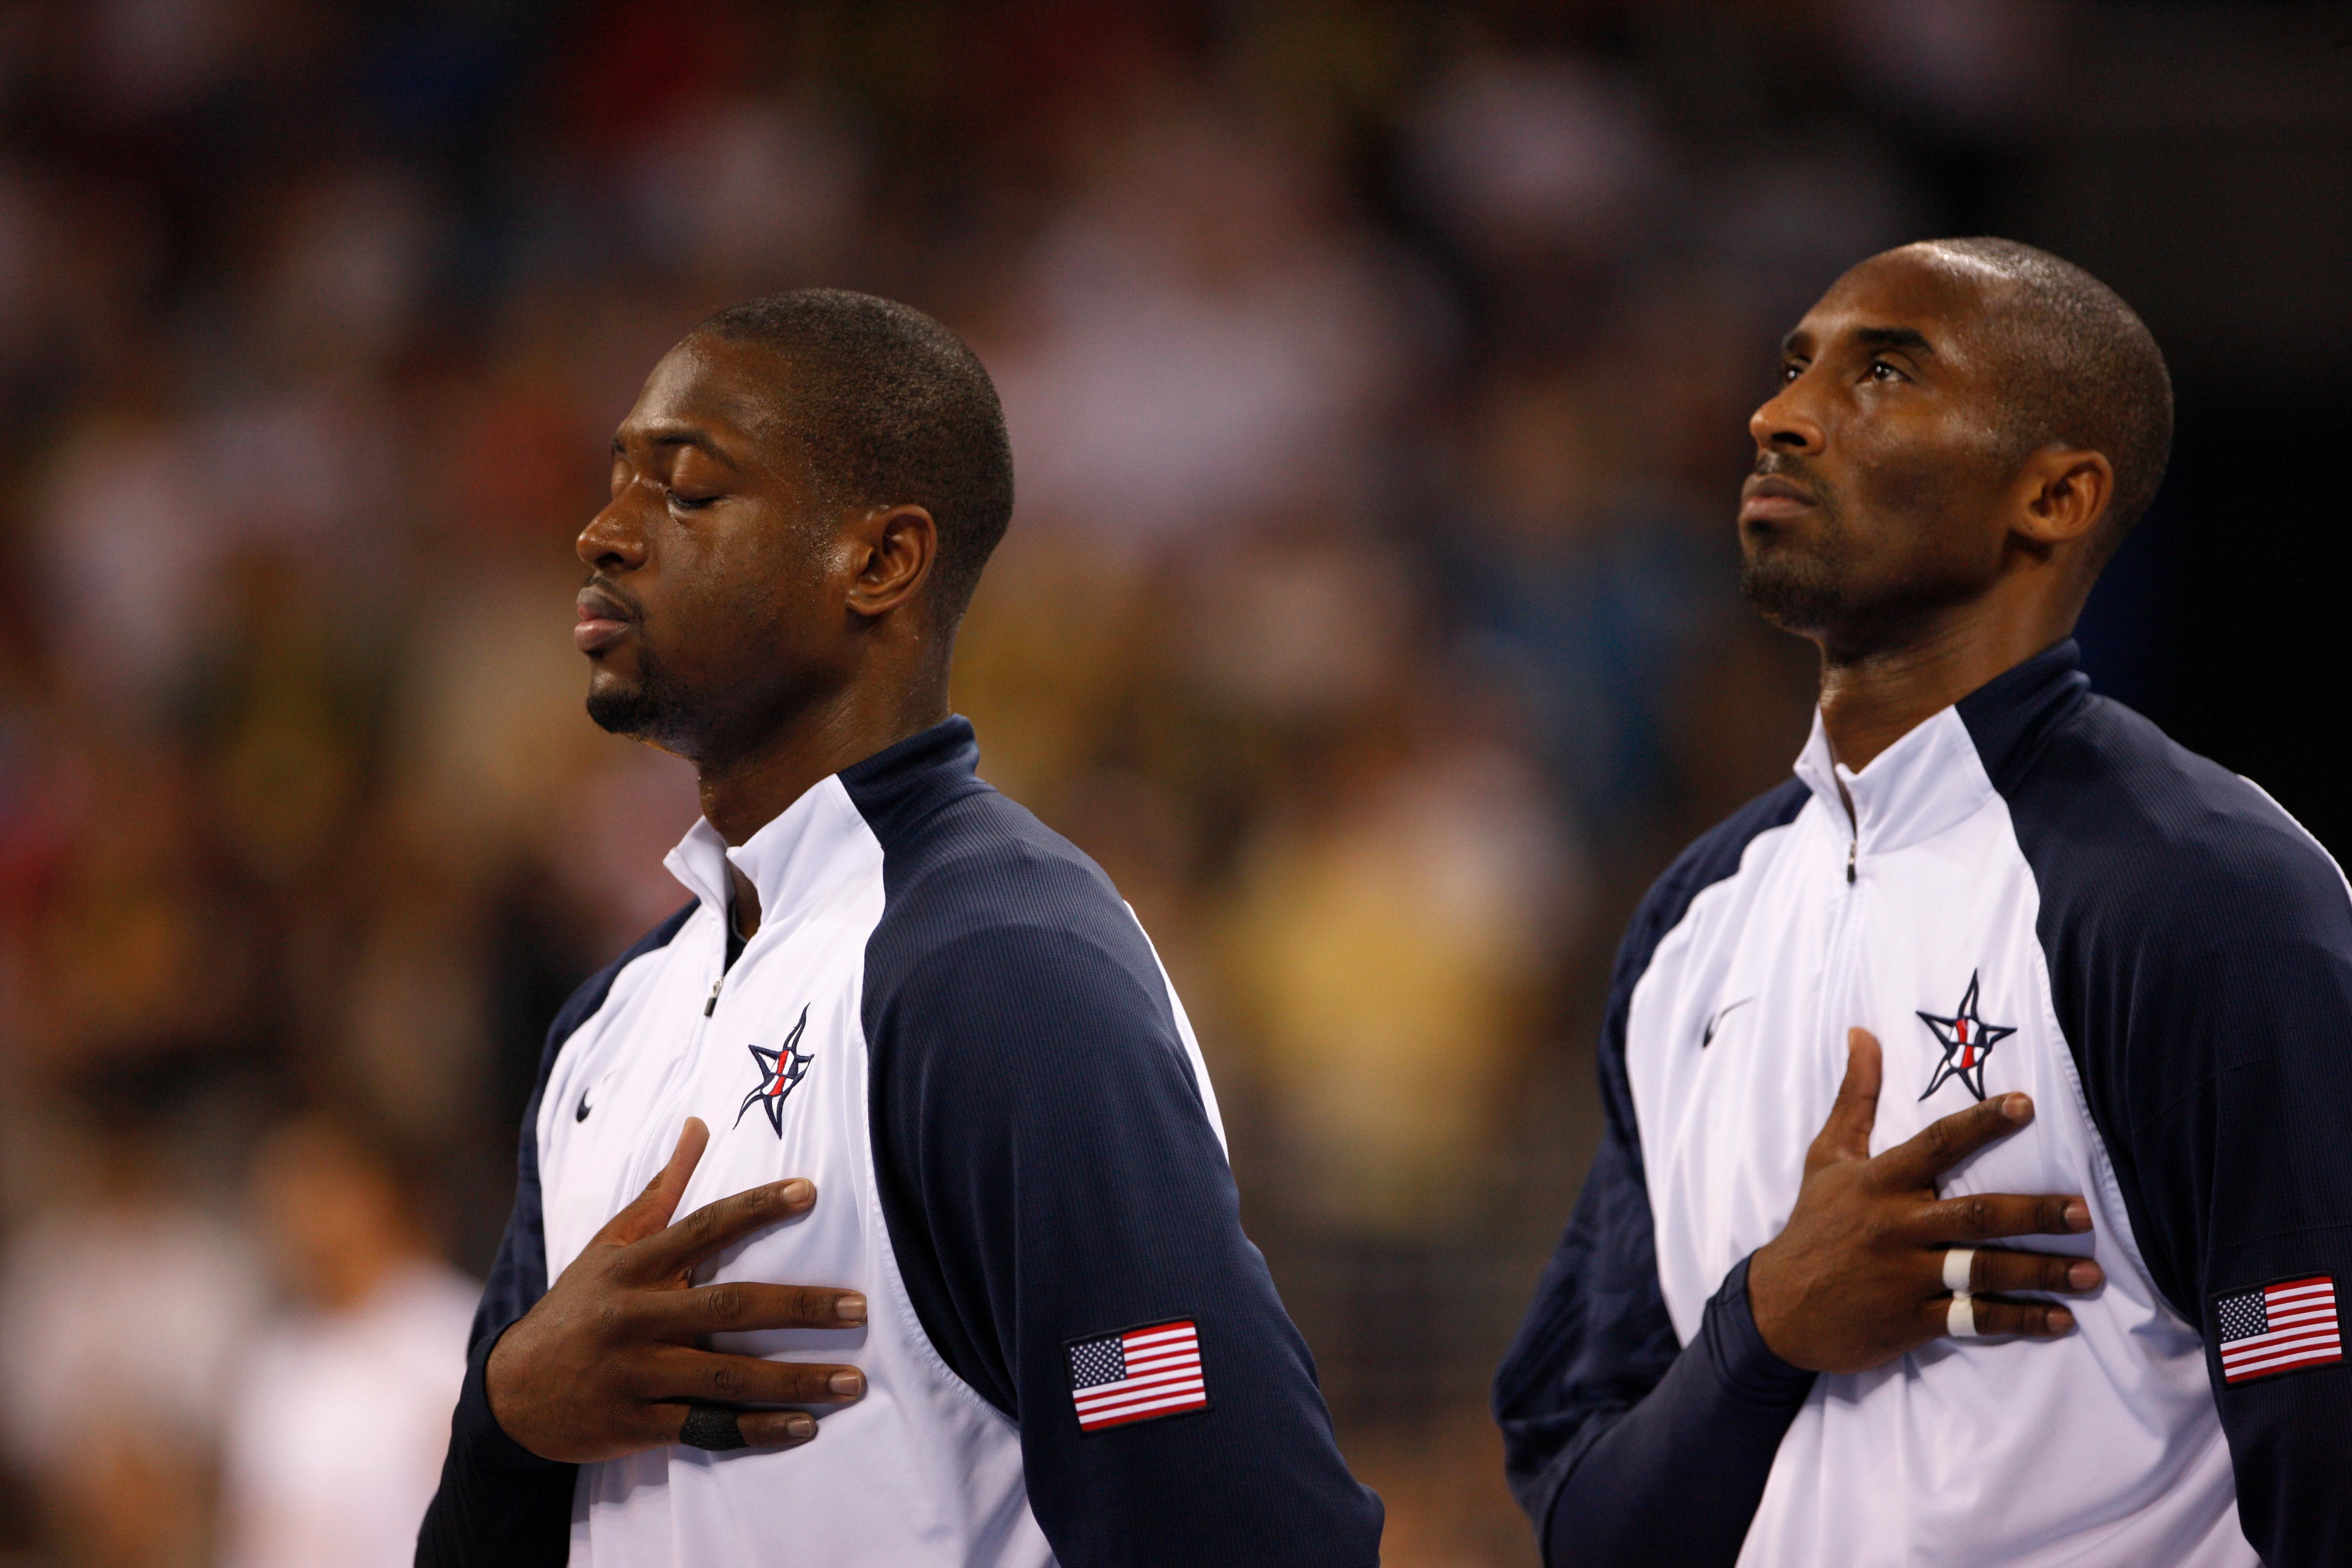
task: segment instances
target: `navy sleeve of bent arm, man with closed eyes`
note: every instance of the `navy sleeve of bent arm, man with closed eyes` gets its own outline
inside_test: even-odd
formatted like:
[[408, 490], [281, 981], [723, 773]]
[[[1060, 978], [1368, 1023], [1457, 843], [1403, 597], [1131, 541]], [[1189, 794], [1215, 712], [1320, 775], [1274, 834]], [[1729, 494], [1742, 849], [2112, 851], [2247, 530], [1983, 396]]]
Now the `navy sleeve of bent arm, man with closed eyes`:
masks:
[[489, 1265], [482, 1305], [473, 1314], [466, 1345], [466, 1382], [449, 1418], [449, 1453], [442, 1458], [440, 1490], [416, 1533], [416, 1568], [560, 1568], [572, 1556], [572, 1486], [576, 1465], [541, 1460], [506, 1436], [489, 1408], [482, 1382], [489, 1352], [515, 1319], [548, 1293], [548, 1234], [539, 1206], [539, 1103], [564, 1041], [604, 1006], [612, 983], [630, 959], [666, 945], [694, 912], [661, 922], [637, 945], [572, 992], [548, 1027], [539, 1051], [539, 1081], [522, 1112], [522, 1147], [515, 1154], [515, 1211]]

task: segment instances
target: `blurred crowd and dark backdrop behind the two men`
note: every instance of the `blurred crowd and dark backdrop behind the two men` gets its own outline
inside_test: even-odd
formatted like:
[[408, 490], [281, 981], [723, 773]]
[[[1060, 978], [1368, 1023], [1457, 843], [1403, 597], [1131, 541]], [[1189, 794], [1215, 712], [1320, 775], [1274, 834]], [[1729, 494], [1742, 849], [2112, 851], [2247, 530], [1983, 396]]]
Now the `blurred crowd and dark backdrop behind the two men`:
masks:
[[2343, 851], [2343, 5], [0, 5], [0, 1563], [407, 1561], [541, 1034], [682, 898], [569, 541], [814, 282], [1000, 381], [955, 701], [1157, 938], [1388, 1561], [1534, 1563], [1606, 961], [1806, 726], [1745, 416], [1987, 230], [2180, 386], [2091, 670]]

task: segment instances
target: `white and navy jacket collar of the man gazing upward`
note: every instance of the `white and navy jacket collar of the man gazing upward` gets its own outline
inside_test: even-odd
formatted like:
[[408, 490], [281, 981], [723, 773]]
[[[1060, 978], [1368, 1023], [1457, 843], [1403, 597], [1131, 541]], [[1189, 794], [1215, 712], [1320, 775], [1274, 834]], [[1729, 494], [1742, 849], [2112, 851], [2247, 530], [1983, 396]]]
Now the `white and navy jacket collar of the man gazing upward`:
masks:
[[1832, 823], [1846, 823], [1844, 783], [1853, 799], [1853, 837], [1863, 853], [1919, 844], [1973, 816], [2018, 771], [2030, 766], [2049, 722], [2082, 701], [2091, 682], [2077, 670], [2082, 651], [2060, 642], [2004, 670], [1952, 708], [1917, 724], [1900, 741], [1853, 771], [1830, 757], [1830, 738], [1813, 710], [1813, 733], [1797, 755], [1797, 778]]

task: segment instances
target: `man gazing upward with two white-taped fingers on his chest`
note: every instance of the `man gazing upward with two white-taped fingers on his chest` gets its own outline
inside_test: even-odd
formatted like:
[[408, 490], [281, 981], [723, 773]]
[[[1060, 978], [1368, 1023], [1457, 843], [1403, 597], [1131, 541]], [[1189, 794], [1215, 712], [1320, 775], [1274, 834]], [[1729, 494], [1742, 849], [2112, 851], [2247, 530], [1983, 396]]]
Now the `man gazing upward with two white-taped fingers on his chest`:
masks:
[[1496, 1380], [1555, 1568], [2352, 1561], [2352, 896], [2070, 642], [2171, 421], [2009, 240], [1783, 341], [1743, 583], [1820, 708], [1618, 954]]

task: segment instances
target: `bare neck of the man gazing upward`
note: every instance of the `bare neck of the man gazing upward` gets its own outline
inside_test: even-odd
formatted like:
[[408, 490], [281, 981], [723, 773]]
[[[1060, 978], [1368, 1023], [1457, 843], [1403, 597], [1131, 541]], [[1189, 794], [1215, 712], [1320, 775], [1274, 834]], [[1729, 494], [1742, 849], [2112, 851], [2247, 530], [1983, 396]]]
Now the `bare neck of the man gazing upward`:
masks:
[[1830, 755], [1863, 771], [1889, 745], [2072, 632], [2072, 616], [1987, 616], [1955, 607], [1907, 637], [1853, 646], [1835, 632], [1820, 646], [1820, 729]]

